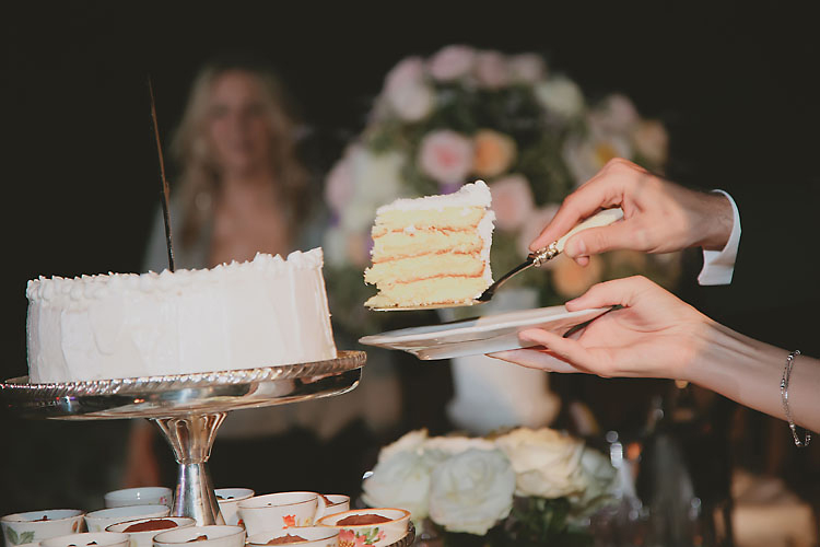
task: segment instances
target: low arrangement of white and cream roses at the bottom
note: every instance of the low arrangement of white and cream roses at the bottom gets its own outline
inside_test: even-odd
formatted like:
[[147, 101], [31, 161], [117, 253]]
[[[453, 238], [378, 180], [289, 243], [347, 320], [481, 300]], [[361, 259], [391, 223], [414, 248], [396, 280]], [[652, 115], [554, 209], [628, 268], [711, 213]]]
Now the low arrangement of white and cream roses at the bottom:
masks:
[[485, 438], [411, 431], [384, 446], [365, 476], [370, 507], [411, 512], [445, 545], [588, 545], [588, 520], [618, 500], [609, 459], [557, 430]]

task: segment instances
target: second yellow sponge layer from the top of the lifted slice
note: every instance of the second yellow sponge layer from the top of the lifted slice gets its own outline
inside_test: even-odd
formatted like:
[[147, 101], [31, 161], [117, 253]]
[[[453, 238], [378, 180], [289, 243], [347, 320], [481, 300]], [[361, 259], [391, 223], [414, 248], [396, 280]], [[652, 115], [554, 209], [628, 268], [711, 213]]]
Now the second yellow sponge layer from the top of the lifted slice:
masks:
[[472, 232], [413, 230], [389, 232], [373, 240], [373, 264], [389, 259], [441, 253], [478, 253], [484, 246], [481, 236]]

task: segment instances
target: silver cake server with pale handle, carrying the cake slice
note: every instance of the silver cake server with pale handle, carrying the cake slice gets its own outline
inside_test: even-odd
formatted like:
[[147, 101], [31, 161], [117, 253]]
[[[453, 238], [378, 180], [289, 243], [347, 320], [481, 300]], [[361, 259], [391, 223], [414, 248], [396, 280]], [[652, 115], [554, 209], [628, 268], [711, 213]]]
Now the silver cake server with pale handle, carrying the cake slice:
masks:
[[606, 226], [606, 225], [609, 225], [613, 222], [621, 220], [622, 218], [623, 218], [623, 209], [614, 208], [614, 209], [604, 209], [602, 211], [599, 211], [596, 214], [593, 214], [588, 219], [585, 219], [582, 222], [578, 222], [575, 225], [575, 228], [570, 230], [560, 240], [550, 243], [543, 248], [540, 248], [534, 253], [530, 253], [527, 256], [526, 260], [524, 260], [522, 264], [519, 264], [512, 270], [504, 274], [501, 278], [499, 278], [497, 281], [495, 281], [493, 284], [488, 287], [487, 290], [475, 300], [468, 300], [465, 302], [460, 302], [458, 304], [427, 304], [427, 305], [401, 306], [401, 307], [400, 306], [372, 307], [371, 310], [374, 310], [376, 312], [403, 312], [403, 311], [411, 311], [411, 310], [436, 310], [436, 309], [443, 309], [443, 307], [471, 306], [476, 304], [483, 304], [484, 302], [490, 302], [490, 300], [492, 300], [492, 298], [495, 295], [495, 291], [499, 290], [499, 288], [501, 288], [504, 283], [506, 283], [513, 276], [516, 276], [520, 274], [522, 271], [531, 268], [532, 266], [535, 267], [542, 266], [543, 264], [548, 263], [549, 260], [560, 255], [564, 251], [564, 245], [566, 244], [566, 241], [573, 235], [575, 235], [576, 233], [581, 232], [582, 230], [588, 230], [590, 228]]

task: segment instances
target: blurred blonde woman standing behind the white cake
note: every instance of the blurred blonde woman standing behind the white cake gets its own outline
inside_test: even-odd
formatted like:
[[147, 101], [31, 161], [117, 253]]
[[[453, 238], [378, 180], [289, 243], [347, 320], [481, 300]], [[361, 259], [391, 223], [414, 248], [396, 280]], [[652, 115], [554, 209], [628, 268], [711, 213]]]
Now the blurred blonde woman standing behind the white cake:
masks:
[[[177, 269], [319, 246], [325, 217], [321, 200], [312, 199], [321, 195], [319, 178], [300, 158], [303, 133], [293, 103], [265, 63], [226, 57], [204, 66], [171, 148], [179, 167], [169, 211]], [[166, 267], [164, 223], [157, 214], [144, 270]], [[366, 395], [359, 387], [343, 397], [230, 412], [210, 461], [215, 487], [258, 493], [359, 488], [365, 470], [359, 458], [366, 455], [361, 446], [372, 442], [361, 418], [372, 414], [363, 411]], [[390, 419], [389, 411], [379, 416]], [[339, 442], [360, 447], [333, 450]], [[174, 482], [174, 470], [157, 465], [172, 463], [168, 453], [156, 457], [157, 450], [167, 451], [157, 444], [147, 421], [133, 428], [125, 486]], [[333, 457], [323, 458], [328, 450]]]

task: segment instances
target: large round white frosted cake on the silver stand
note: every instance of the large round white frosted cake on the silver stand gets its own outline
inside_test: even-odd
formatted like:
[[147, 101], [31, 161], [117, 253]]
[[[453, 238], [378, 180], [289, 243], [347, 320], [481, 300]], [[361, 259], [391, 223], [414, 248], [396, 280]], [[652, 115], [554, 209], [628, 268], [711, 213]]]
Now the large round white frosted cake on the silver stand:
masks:
[[321, 248], [211, 269], [28, 281], [32, 383], [336, 358]]

